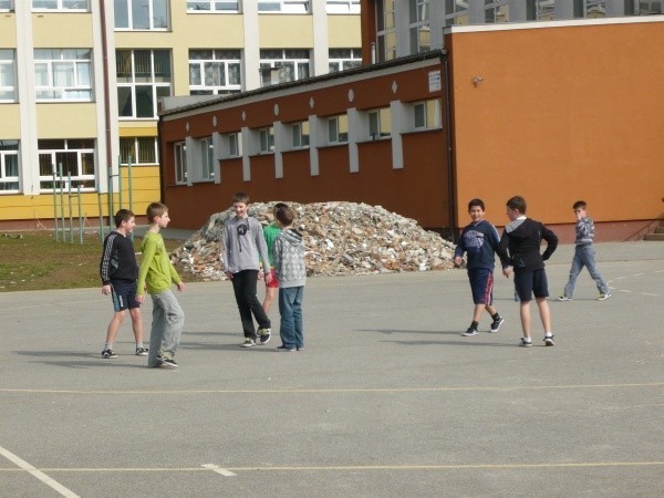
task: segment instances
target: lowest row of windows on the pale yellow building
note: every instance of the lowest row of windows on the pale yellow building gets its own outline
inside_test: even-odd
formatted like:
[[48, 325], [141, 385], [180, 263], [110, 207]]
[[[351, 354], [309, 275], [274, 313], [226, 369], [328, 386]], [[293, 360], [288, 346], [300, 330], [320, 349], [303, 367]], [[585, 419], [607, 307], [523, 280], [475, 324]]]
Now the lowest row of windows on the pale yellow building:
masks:
[[[56, 188], [96, 189], [94, 138], [40, 139], [38, 151], [41, 193], [52, 191], [54, 181]], [[124, 165], [157, 164], [157, 138], [121, 138], [120, 159]], [[19, 193], [20, 170], [20, 141], [0, 139], [0, 194]]]

